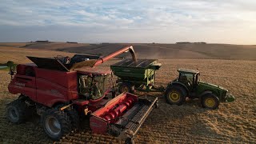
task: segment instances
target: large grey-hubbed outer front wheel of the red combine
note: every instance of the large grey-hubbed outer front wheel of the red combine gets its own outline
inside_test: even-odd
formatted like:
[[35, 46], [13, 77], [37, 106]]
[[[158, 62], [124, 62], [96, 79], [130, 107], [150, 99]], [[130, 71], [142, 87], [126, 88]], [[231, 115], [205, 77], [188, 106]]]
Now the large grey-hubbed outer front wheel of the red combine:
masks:
[[42, 114], [42, 126], [46, 134], [55, 141], [70, 134], [71, 131], [70, 117], [56, 109], [46, 110], [45, 114]]

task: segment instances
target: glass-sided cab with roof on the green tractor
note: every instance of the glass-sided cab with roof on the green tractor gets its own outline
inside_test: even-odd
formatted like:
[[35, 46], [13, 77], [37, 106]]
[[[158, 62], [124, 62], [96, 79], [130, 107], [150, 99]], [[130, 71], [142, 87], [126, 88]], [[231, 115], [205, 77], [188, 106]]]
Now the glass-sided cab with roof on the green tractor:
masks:
[[182, 82], [189, 90], [194, 90], [198, 85], [198, 70], [178, 69], [178, 82]]

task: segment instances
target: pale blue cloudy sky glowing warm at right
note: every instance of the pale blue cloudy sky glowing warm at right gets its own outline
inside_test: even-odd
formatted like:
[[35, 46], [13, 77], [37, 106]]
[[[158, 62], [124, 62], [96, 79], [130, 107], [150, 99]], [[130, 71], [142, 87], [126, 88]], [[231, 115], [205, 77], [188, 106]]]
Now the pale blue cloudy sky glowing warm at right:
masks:
[[0, 42], [256, 44], [255, 0], [0, 0]]

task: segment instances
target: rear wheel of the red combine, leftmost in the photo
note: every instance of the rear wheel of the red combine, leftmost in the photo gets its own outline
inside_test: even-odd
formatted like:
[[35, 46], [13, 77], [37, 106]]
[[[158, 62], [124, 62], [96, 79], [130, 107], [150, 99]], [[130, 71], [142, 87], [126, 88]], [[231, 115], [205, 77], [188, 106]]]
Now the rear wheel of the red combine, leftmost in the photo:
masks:
[[28, 114], [26, 113], [26, 103], [20, 99], [10, 102], [6, 107], [6, 117], [13, 123], [25, 122]]

